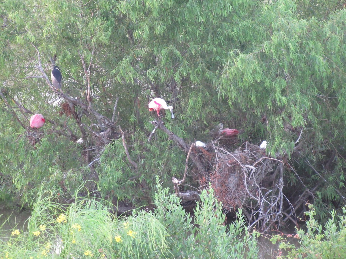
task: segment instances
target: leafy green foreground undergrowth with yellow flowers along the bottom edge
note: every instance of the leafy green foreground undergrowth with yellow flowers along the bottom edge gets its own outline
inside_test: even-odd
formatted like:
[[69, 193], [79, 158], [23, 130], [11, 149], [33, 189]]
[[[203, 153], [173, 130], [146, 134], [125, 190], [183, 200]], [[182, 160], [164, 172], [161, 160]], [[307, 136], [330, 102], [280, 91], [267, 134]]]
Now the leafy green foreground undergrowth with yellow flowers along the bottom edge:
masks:
[[[212, 189], [201, 193], [192, 217], [179, 198], [157, 182], [153, 212], [133, 211], [114, 217], [104, 204], [91, 197], [70, 205], [57, 203], [55, 190], [41, 191], [28, 227], [13, 229], [0, 241], [0, 258], [258, 258], [256, 231], [250, 233], [244, 217], [225, 225], [222, 206]], [[282, 236], [278, 258], [345, 258], [346, 216], [335, 213], [322, 227], [314, 209], [307, 216], [307, 229], [298, 230], [298, 244]], [[337, 223], [336, 223], [337, 221]]]

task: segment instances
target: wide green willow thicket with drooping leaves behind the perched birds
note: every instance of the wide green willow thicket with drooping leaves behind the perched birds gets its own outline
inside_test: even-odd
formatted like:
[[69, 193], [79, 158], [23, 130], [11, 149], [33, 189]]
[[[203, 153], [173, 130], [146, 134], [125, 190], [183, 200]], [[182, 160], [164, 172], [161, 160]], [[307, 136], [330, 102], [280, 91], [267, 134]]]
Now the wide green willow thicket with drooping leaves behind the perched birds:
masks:
[[[163, 131], [147, 142], [147, 103], [161, 97], [176, 115], [162, 115], [167, 130], [187, 144], [211, 141], [219, 123], [242, 129], [234, 149], [267, 140], [297, 214], [307, 200], [322, 217], [338, 208], [346, 12], [321, 20], [294, 1], [263, 2], [1, 2], [2, 199], [31, 201], [43, 183], [69, 195], [93, 180], [86, 187], [102, 197], [149, 204], [155, 175], [171, 186], [186, 159]], [[63, 94], [50, 84], [52, 65]], [[43, 130], [28, 128], [31, 113], [44, 114]]]

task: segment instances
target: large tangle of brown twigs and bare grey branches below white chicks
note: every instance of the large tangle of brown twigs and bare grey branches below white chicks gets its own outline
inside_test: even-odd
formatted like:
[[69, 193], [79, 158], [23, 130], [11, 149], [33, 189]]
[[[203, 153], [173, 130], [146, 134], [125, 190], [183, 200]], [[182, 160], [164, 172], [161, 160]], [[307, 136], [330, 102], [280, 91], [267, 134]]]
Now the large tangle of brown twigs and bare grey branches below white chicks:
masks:
[[227, 211], [246, 208], [251, 226], [261, 222], [263, 231], [280, 221], [283, 162], [266, 156], [264, 150], [248, 142], [233, 152], [215, 146], [215, 153], [210, 184], [224, 208]]

